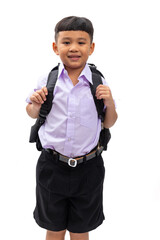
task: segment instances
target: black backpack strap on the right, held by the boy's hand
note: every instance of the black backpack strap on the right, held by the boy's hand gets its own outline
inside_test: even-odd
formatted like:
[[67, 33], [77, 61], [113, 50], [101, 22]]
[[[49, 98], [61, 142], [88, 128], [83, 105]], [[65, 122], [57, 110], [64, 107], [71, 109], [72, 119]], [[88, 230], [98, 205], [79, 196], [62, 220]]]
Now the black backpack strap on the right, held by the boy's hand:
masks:
[[[93, 95], [93, 99], [96, 105], [96, 109], [98, 112], [98, 117], [101, 118], [102, 122], [104, 121], [104, 103], [103, 99], [97, 99], [95, 94], [96, 94], [96, 88], [98, 87], [99, 84], [103, 84], [102, 82], [102, 77], [103, 74], [97, 70], [96, 66], [94, 64], [89, 64], [89, 67], [92, 72], [92, 82], [93, 85], [90, 83], [90, 89]], [[104, 78], [104, 77], [103, 77]]]

